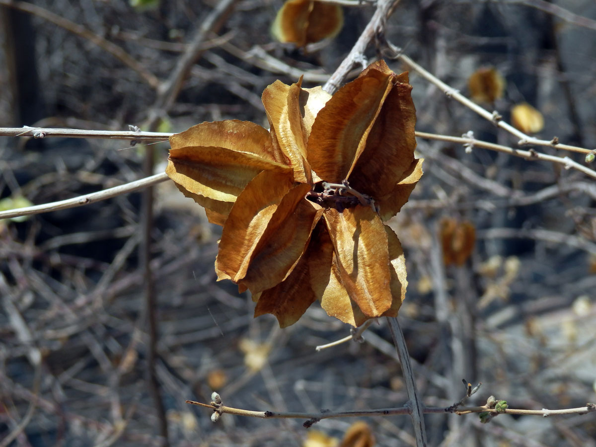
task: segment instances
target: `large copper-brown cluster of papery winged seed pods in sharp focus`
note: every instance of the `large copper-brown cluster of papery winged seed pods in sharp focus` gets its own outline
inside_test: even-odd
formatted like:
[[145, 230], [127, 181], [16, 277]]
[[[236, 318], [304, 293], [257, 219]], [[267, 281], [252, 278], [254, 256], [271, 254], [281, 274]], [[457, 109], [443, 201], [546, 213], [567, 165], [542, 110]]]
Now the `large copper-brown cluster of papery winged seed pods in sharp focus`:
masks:
[[252, 292], [255, 316], [286, 327], [316, 300], [355, 326], [397, 315], [405, 261], [383, 222], [422, 175], [410, 92], [408, 74], [379, 61], [333, 97], [269, 85], [269, 131], [225, 120], [170, 137], [166, 172], [224, 226], [218, 278]]

